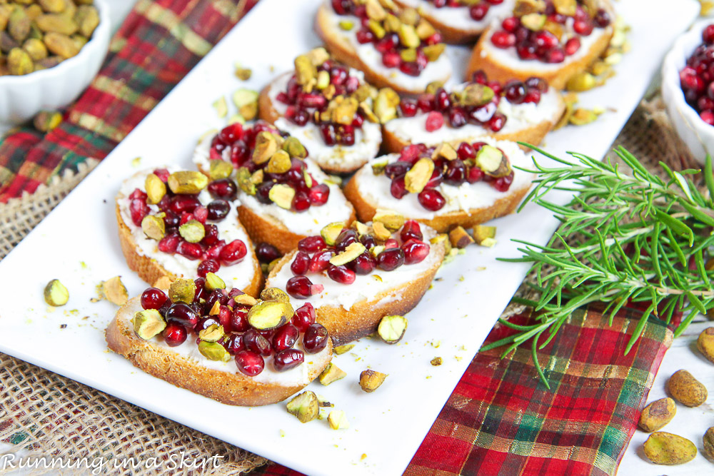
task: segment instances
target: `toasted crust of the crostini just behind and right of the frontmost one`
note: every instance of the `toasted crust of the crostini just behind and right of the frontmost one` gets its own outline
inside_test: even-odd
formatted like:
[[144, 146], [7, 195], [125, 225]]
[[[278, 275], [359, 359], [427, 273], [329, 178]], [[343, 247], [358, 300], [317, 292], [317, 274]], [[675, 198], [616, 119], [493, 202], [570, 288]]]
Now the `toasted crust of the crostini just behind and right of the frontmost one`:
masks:
[[[443, 244], [432, 244], [434, 252], [437, 253], [436, 263], [423, 273], [416, 275], [414, 279], [396, 288], [390, 288], [376, 295], [373, 300], [361, 300], [352, 305], [350, 310], [345, 310], [342, 306], [322, 305], [315, 308], [317, 322], [324, 325], [330, 333], [334, 345], [344, 345], [353, 340], [361, 339], [377, 330], [379, 321], [385, 315], [404, 315], [412, 310], [419, 303], [424, 293], [431, 285], [431, 281], [436, 275], [436, 271], [444, 258], [446, 248]], [[275, 268], [268, 275], [268, 285], [284, 289], [286, 283], [277, 283], [276, 275], [283, 266], [289, 266], [296, 252], [283, 256]], [[388, 280], [389, 273], [381, 274]], [[271, 281], [272, 280], [272, 281]], [[389, 295], [398, 295], [398, 299], [383, 298]], [[308, 302], [308, 300], [306, 300]]]

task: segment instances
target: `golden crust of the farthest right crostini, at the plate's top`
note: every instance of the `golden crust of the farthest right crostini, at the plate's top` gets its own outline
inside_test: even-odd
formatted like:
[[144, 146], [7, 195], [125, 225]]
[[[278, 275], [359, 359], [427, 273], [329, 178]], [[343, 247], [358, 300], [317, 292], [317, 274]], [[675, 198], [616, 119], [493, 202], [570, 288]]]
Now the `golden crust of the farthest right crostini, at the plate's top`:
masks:
[[[580, 71], [584, 71], [590, 64], [598, 59], [598, 56], [603, 54], [603, 51], [605, 51], [608, 44], [610, 44], [613, 31], [611, 25], [605, 28], [604, 31], [600, 33], [598, 39], [590, 46], [588, 53], [580, 59], [570, 61], [558, 69], [546, 70], [538, 69], [538, 61], [523, 61], [524, 65], [528, 63], [533, 64], [533, 68], [527, 69], [511, 69], [499, 63], [493, 56], [488, 54], [486, 41], [488, 41], [491, 34], [491, 29], [488, 29], [481, 35], [481, 39], [478, 40], [478, 43], [476, 43], [476, 46], [473, 48], [473, 53], [471, 54], [471, 59], [468, 61], [468, 68], [466, 69], [466, 78], [471, 78], [474, 71], [481, 69], [486, 73], [488, 79], [491, 80], [505, 82], [511, 79], [520, 79], [521, 81], [526, 81], [526, 79], [531, 76], [539, 76], [548, 81], [550, 87], [564, 89], [568, 79]], [[484, 56], [482, 56], [482, 54]]]

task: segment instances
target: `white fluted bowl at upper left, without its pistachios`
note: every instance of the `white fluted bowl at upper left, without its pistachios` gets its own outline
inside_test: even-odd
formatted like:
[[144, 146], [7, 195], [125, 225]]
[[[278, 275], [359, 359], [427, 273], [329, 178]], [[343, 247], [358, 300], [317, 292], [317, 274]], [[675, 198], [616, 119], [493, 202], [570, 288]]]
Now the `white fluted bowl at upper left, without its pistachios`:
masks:
[[0, 76], [0, 126], [27, 121], [43, 109], [57, 109], [74, 101], [104, 61], [109, 49], [109, 7], [94, 0], [99, 25], [77, 56], [52, 68], [24, 76]]

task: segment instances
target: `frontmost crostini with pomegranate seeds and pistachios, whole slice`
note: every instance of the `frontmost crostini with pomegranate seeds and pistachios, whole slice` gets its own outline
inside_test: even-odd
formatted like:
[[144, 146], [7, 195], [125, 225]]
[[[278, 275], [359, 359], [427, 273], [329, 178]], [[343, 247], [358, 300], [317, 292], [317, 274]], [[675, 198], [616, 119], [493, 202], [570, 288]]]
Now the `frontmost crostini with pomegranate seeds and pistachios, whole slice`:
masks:
[[216, 280], [179, 279], [168, 291], [132, 298], [106, 328], [109, 348], [154, 377], [228, 405], [280, 402], [320, 375], [332, 358], [322, 325], [291, 324], [295, 313], [279, 290], [256, 301], [216, 288]]

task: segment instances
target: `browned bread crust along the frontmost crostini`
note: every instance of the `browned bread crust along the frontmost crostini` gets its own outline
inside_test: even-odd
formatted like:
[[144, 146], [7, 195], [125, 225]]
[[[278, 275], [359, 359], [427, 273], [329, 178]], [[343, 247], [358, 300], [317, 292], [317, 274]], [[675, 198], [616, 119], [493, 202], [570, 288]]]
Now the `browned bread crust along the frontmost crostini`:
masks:
[[[281, 402], [307, 385], [256, 382], [237, 369], [236, 373], [228, 373], [206, 368], [197, 360], [161, 348], [149, 340], [143, 340], [134, 333], [129, 320], [132, 317], [131, 310], [137, 305], [141, 308], [139, 298], [132, 298], [129, 303], [122, 306], [106, 328], [104, 335], [111, 350], [124, 355], [134, 366], [154, 377], [226, 405], [251, 407]], [[308, 371], [310, 381], [320, 375], [331, 360], [331, 355], [332, 343], [328, 340], [328, 358], [311, 366]], [[309, 355], [306, 355], [307, 358]], [[303, 363], [303, 365], [308, 364]]]

